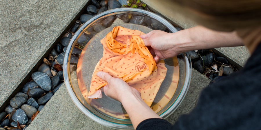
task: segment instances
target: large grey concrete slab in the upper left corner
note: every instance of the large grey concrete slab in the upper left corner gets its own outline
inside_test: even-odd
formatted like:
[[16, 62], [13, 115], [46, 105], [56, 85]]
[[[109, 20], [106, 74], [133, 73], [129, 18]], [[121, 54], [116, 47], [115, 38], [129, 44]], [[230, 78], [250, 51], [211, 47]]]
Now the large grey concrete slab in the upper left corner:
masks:
[[88, 0], [0, 3], [0, 106]]

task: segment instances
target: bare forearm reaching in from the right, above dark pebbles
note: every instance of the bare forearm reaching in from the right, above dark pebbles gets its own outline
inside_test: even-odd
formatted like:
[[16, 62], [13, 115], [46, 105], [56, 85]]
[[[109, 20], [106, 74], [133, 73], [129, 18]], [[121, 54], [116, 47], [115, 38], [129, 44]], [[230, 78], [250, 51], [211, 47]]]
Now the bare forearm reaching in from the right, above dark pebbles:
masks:
[[192, 27], [170, 35], [172, 35], [170, 36], [172, 38], [170, 42], [174, 44], [174, 48], [179, 52], [244, 45], [235, 31], [213, 31], [202, 26]]

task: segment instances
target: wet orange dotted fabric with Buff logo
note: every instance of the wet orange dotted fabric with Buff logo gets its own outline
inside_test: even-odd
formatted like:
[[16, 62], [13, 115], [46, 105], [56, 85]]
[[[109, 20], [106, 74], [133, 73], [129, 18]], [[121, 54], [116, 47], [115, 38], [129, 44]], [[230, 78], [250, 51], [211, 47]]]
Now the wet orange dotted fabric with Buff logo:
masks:
[[104, 46], [103, 57], [95, 67], [88, 98], [102, 97], [100, 88], [108, 83], [96, 74], [103, 71], [112, 77], [123, 79], [139, 90], [142, 99], [151, 105], [165, 79], [167, 68], [164, 63], [155, 63], [139, 37], [142, 34], [144, 33], [138, 30], [117, 26], [101, 40]]

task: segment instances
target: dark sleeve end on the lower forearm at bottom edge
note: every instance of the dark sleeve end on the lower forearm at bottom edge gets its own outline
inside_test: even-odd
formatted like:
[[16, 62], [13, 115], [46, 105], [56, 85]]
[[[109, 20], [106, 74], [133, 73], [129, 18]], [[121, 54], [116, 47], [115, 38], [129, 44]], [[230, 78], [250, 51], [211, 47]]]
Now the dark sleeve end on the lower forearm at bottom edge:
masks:
[[164, 119], [150, 118], [140, 122], [136, 130], [167, 130], [171, 126], [171, 123]]

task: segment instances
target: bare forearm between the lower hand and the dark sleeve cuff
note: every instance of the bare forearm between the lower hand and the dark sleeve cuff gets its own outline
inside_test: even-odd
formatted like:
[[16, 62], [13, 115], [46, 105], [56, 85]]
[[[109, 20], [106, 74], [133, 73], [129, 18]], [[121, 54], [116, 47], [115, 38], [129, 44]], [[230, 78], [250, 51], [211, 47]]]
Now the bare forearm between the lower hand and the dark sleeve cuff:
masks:
[[134, 129], [140, 122], [149, 118], [161, 118], [158, 116], [137, 94], [131, 94], [122, 99], [122, 105], [128, 113]]

